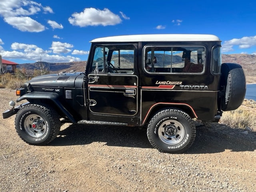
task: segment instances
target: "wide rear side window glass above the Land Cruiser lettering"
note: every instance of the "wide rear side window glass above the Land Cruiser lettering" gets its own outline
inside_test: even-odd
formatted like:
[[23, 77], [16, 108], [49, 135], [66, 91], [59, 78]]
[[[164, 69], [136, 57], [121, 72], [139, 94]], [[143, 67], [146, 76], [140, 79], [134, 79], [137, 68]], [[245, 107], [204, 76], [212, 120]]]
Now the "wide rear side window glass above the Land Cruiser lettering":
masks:
[[144, 69], [149, 73], [202, 73], [205, 48], [190, 46], [146, 46]]

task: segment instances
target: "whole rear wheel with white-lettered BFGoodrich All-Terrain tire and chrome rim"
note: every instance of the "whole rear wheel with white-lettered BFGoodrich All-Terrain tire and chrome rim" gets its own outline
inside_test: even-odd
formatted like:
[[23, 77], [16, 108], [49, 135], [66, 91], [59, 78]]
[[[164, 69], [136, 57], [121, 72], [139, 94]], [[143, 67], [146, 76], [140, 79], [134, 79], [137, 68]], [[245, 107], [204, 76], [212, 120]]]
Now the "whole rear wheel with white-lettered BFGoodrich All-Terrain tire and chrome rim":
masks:
[[147, 135], [152, 146], [160, 152], [181, 153], [194, 142], [196, 128], [185, 112], [166, 109], [150, 120]]

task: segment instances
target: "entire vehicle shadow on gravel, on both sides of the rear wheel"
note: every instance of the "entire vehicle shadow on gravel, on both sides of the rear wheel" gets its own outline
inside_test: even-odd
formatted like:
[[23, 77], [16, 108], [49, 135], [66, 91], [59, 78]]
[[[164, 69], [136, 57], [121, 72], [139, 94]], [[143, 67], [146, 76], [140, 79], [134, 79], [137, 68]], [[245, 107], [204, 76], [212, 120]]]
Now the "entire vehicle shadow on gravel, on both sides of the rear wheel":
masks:
[[[233, 152], [256, 150], [256, 132], [243, 133], [244, 130], [225, 125], [199, 126], [196, 128], [194, 144], [187, 154], [218, 153], [225, 150]], [[104, 142], [107, 146], [153, 148], [148, 141], [146, 129], [126, 126], [103, 126], [71, 124], [61, 130], [59, 136], [49, 145], [72, 146]]]

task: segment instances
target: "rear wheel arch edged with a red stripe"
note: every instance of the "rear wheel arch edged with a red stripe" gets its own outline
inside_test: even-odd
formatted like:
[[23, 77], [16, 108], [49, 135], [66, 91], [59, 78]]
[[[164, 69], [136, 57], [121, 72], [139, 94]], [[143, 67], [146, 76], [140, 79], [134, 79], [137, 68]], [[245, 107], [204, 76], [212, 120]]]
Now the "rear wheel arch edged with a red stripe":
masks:
[[146, 122], [151, 119], [154, 114], [163, 109], [176, 108], [186, 112], [191, 118], [197, 118], [196, 112], [192, 108], [192, 106], [186, 103], [156, 103], [150, 107], [148, 110], [144, 120], [142, 121], [142, 125], [145, 125]]

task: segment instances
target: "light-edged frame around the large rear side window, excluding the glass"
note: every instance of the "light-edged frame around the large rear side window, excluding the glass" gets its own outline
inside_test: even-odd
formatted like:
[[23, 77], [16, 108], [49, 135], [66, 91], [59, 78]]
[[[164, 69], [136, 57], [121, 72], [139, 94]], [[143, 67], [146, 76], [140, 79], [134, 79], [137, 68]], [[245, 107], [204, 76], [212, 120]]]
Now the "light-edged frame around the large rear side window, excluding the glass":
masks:
[[[170, 48], [173, 48], [173, 47], [202, 47], [204, 48], [204, 65], [203, 65], [203, 70], [202, 72], [199, 72], [199, 73], [192, 73], [192, 72], [149, 72], [146, 70], [145, 68], [145, 54], [146, 54], [146, 48], [148, 47], [170, 47]], [[179, 45], [174, 45], [174, 44], [147, 44], [143, 47], [142, 49], [142, 69], [144, 70], [144, 72], [148, 73], [148, 74], [193, 74], [193, 75], [200, 75], [200, 74], [204, 74], [205, 70], [206, 70], [206, 60], [207, 60], [207, 49], [206, 49], [206, 46], [200, 44], [200, 45], [195, 45], [195, 44], [179, 44]], [[172, 68], [172, 67], [171, 67]]]

